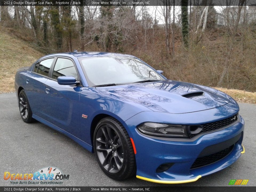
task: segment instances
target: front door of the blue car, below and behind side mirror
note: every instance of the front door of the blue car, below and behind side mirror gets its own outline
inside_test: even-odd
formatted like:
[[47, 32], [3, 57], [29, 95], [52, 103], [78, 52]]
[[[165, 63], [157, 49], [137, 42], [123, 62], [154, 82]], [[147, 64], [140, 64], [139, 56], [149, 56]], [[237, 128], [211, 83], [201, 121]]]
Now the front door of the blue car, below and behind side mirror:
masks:
[[74, 76], [80, 81], [71, 58], [57, 57], [51, 69], [51, 78], [45, 82], [46, 120], [79, 138], [79, 97], [82, 86], [59, 85], [57, 78], [60, 76]]

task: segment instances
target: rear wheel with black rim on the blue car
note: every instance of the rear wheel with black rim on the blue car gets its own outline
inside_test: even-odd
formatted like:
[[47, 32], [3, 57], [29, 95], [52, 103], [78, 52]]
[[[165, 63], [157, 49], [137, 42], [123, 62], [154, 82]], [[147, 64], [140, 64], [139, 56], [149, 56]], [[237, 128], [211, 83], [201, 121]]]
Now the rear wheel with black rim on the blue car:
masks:
[[21, 114], [21, 118], [24, 122], [33, 122], [34, 119], [32, 118], [32, 111], [24, 90], [21, 90], [19, 93], [19, 113]]

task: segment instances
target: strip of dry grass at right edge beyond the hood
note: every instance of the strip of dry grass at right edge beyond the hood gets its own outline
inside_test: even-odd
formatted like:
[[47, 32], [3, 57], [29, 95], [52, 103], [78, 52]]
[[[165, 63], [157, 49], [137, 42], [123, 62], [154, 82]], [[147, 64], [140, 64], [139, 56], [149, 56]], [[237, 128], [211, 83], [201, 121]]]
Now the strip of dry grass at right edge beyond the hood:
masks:
[[256, 104], [256, 92], [253, 93], [249, 91], [242, 91], [237, 89], [226, 89], [226, 88], [219, 88], [219, 87], [214, 87], [214, 88], [230, 95], [238, 102]]

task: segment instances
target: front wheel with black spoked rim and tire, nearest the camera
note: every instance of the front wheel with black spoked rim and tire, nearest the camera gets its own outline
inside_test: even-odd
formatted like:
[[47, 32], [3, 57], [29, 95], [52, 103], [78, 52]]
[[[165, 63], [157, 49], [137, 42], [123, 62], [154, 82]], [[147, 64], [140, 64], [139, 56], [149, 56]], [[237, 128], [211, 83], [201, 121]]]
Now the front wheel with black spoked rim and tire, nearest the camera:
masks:
[[123, 180], [136, 173], [136, 161], [130, 137], [113, 117], [103, 118], [93, 136], [94, 152], [102, 171], [112, 179]]

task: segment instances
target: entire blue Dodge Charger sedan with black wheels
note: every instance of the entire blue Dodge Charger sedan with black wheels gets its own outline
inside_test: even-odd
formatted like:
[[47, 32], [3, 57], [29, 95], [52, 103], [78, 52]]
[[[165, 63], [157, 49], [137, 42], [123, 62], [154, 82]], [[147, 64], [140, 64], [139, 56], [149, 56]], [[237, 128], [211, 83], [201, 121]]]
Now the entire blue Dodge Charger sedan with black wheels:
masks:
[[117, 180], [193, 182], [234, 163], [245, 152], [237, 102], [161, 73], [132, 55], [46, 55], [15, 76], [21, 118], [74, 139]]

